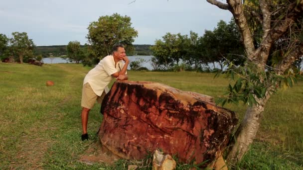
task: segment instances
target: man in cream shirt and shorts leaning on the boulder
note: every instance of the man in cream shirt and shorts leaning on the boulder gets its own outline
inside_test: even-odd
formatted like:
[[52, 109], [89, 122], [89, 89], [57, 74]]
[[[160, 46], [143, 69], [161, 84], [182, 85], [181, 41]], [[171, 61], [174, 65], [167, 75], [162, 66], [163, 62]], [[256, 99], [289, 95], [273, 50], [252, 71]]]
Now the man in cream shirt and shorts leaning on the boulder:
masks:
[[88, 140], [87, 121], [90, 109], [96, 101], [98, 101], [98, 103], [102, 102], [105, 96], [105, 88], [113, 78], [118, 80], [128, 79], [126, 70], [129, 62], [123, 44], [115, 44], [112, 48], [112, 55], [104, 57], [99, 64], [85, 76], [81, 99], [82, 141]]

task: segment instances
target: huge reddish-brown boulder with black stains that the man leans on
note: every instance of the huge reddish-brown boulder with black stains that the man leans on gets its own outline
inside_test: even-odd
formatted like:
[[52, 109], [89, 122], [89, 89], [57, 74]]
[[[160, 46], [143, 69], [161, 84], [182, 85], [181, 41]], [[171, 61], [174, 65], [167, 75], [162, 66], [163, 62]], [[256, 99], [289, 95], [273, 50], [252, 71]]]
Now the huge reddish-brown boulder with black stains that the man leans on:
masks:
[[224, 151], [235, 113], [207, 95], [152, 82], [117, 81], [104, 97], [99, 138], [124, 159], [143, 159], [162, 149], [178, 161], [206, 167]]

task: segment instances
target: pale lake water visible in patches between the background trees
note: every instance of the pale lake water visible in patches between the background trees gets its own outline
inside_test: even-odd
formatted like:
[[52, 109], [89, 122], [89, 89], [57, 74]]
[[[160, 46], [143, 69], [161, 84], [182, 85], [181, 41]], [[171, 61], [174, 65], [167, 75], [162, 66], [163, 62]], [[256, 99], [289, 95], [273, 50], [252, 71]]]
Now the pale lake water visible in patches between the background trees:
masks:
[[[151, 63], [152, 57], [153, 56], [128, 56], [130, 62], [136, 61], [137, 59], [138, 60], [144, 59], [145, 62], [142, 63], [142, 67], [146, 67], [149, 70], [153, 70], [152, 63]], [[73, 63], [73, 62], [69, 62], [68, 60], [62, 59], [61, 57], [54, 57], [52, 59], [51, 58], [43, 58], [42, 62], [46, 63], [46, 64]], [[179, 63], [182, 63], [182, 61], [180, 61]], [[208, 66], [209, 66], [210, 69], [213, 69], [213, 64], [212, 63], [209, 63]], [[220, 68], [219, 63], [215, 63], [215, 67]], [[128, 70], [130, 70], [130, 69], [131, 69], [131, 67], [129, 65]]]

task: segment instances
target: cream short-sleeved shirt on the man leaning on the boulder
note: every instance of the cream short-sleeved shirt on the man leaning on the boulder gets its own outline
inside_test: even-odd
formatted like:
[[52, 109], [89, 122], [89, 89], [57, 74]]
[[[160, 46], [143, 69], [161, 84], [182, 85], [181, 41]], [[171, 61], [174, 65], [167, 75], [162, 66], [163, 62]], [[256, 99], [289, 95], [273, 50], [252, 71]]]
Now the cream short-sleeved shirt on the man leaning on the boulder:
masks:
[[83, 85], [89, 83], [93, 91], [101, 96], [103, 90], [113, 80], [112, 74], [120, 72], [124, 66], [123, 60], [117, 62], [115, 66], [114, 56], [104, 57], [95, 68], [90, 70], [84, 78]]

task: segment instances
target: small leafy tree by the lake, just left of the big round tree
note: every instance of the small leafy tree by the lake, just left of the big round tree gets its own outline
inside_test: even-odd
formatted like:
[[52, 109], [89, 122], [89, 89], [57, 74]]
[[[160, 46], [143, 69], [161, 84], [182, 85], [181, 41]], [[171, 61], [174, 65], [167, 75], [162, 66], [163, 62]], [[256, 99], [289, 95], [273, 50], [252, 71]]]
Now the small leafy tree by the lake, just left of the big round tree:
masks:
[[80, 48], [79, 41], [70, 41], [66, 46], [67, 58], [71, 62], [76, 62], [79, 64], [84, 59], [84, 52]]

